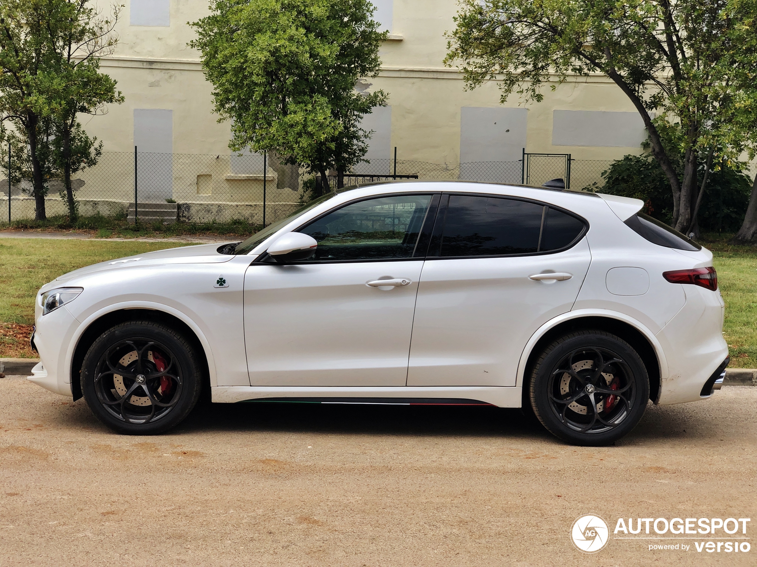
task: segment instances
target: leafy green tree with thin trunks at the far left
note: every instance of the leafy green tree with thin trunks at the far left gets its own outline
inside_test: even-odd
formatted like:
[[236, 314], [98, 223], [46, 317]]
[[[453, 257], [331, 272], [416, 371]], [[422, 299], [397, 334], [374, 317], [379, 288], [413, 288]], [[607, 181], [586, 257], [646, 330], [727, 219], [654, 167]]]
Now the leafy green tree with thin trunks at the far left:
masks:
[[37, 219], [45, 218], [49, 179], [62, 177], [75, 220], [70, 175], [101, 153], [77, 116], [123, 101], [116, 82], [99, 72], [98, 58], [116, 45], [119, 10], [102, 17], [92, 0], [0, 0], [3, 133], [20, 150], [11, 169], [30, 176]]

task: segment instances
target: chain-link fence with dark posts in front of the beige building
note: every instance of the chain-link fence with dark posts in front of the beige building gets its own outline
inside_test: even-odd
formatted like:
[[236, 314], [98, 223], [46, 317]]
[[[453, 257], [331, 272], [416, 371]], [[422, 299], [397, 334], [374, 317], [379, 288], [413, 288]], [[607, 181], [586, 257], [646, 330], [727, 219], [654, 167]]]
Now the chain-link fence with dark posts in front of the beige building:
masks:
[[[554, 162], [554, 163], [552, 163]], [[265, 163], [265, 173], [263, 164]], [[593, 183], [601, 186], [601, 173], [609, 160], [571, 160], [570, 187], [579, 190]], [[559, 160], [531, 164], [528, 183], [543, 184], [563, 177], [565, 163]], [[486, 181], [520, 184], [521, 161], [427, 163], [412, 160], [371, 160], [360, 163], [344, 184], [388, 181], [394, 178]], [[106, 152], [98, 164], [73, 175], [73, 191], [79, 215], [129, 218], [134, 222], [245, 222], [254, 225], [276, 222], [307, 200], [307, 177], [297, 166], [286, 165], [275, 154], [182, 154]], [[336, 186], [329, 175], [329, 185]], [[307, 184], [306, 184], [307, 185]], [[58, 193], [61, 180], [48, 182], [45, 212], [48, 217], [67, 214], [67, 204]], [[0, 180], [8, 218], [8, 178]], [[30, 182], [11, 187], [10, 218], [35, 216]], [[135, 206], [136, 205], [136, 206]]]

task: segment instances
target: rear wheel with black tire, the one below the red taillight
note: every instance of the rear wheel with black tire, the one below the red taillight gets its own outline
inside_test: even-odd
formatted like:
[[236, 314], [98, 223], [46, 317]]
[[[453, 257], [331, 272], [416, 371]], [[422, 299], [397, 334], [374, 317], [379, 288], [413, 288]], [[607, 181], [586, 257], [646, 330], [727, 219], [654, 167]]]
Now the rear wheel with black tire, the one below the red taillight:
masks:
[[553, 435], [597, 446], [615, 442], [639, 423], [650, 379], [628, 342], [602, 330], [581, 330], [544, 349], [528, 389], [534, 414]]

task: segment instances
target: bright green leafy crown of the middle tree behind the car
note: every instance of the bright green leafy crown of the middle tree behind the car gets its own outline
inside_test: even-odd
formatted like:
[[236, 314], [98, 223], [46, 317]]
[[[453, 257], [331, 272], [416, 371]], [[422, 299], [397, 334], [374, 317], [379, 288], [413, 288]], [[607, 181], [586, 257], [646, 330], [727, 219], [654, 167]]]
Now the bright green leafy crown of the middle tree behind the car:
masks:
[[192, 26], [234, 151], [276, 151], [326, 178], [367, 150], [360, 119], [385, 104], [355, 83], [378, 74], [386, 33], [369, 0], [211, 0]]

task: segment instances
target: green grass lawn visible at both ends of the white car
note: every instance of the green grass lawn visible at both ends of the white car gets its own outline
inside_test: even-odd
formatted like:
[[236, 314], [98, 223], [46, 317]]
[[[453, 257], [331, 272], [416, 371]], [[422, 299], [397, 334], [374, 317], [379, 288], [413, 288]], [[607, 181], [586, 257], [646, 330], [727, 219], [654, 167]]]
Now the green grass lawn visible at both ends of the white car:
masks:
[[[115, 231], [103, 227], [98, 234], [105, 237]], [[731, 349], [731, 367], [757, 368], [757, 247], [733, 246], [728, 243], [730, 236], [705, 235], [702, 244], [715, 254], [726, 304], [724, 336]], [[67, 271], [174, 246], [138, 240], [0, 239], [0, 322], [32, 324], [37, 290]], [[11, 340], [15, 339], [6, 342]], [[0, 356], [7, 352], [0, 340]]]

